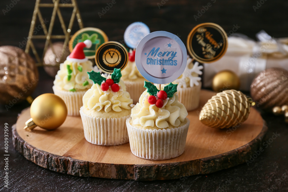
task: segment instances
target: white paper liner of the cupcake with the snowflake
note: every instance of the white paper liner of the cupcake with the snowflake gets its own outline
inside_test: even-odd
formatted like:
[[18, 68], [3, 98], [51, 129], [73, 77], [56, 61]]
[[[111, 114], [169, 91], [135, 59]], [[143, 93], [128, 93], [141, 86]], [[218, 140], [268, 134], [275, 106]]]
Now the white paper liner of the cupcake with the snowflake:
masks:
[[178, 100], [185, 106], [187, 111], [192, 111], [198, 108], [201, 85], [201, 82], [199, 82], [199, 85], [197, 86], [177, 89]]

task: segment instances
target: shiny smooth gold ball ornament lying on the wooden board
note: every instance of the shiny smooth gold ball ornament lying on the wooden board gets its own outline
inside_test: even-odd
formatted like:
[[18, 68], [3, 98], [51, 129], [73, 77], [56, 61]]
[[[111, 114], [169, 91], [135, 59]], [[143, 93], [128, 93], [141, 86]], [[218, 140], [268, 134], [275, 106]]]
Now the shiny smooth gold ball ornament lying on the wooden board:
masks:
[[31, 119], [26, 122], [25, 130], [31, 131], [36, 126], [46, 130], [53, 130], [64, 123], [67, 117], [65, 102], [52, 93], [38, 96], [30, 108]]

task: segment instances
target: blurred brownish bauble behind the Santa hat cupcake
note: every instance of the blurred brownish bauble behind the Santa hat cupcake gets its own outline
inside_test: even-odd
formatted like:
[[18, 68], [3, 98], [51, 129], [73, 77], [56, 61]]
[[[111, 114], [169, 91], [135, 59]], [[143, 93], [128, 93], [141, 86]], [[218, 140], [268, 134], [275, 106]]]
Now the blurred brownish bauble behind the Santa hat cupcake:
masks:
[[[69, 48], [66, 47], [66, 49], [63, 50], [63, 42], [56, 42], [52, 44], [53, 50], [51, 47], [48, 47], [44, 59], [43, 59], [43, 65], [44, 65], [44, 70], [48, 75], [51, 77], [55, 77], [57, 74], [58, 70], [60, 69], [59, 64], [63, 63], [66, 58], [69, 56], [70, 51]], [[49, 66], [46, 66], [49, 65]]]

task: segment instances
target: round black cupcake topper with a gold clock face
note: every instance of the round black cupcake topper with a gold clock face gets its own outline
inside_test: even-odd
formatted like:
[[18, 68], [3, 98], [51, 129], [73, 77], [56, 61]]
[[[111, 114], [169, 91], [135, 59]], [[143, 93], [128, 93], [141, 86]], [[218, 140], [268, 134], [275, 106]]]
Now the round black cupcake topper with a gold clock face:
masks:
[[103, 43], [96, 51], [97, 67], [105, 73], [113, 73], [114, 68], [124, 69], [128, 63], [126, 48], [116, 41]]

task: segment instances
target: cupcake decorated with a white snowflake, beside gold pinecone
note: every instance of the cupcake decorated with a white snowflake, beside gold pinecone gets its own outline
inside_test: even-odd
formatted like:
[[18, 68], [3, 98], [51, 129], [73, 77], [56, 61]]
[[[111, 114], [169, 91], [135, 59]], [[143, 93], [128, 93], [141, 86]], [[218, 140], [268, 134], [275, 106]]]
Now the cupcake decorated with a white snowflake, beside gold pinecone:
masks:
[[198, 62], [193, 64], [192, 59], [187, 56], [187, 65], [183, 74], [173, 81], [178, 84], [177, 93], [179, 102], [181, 102], [187, 111], [196, 109], [200, 102], [201, 77], [203, 66]]

